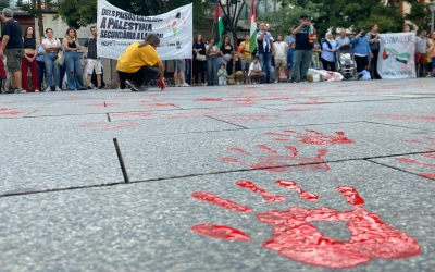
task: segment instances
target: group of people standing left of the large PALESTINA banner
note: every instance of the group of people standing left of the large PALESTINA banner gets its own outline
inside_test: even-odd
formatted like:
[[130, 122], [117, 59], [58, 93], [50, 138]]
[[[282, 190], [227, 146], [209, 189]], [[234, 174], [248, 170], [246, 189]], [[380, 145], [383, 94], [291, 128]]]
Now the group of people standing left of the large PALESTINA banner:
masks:
[[[83, 59], [78, 51], [82, 45], [77, 32], [67, 28], [62, 41], [53, 36], [51, 28], [38, 40], [32, 26], [24, 34], [20, 23], [13, 17], [11, 9], [3, 9], [0, 14], [4, 23], [0, 41], [0, 86], [5, 94], [25, 94], [30, 89], [39, 91], [60, 91], [66, 78], [65, 90], [101, 89], [102, 62], [97, 54], [97, 28], [90, 28], [91, 36], [85, 41]], [[84, 64], [82, 63], [84, 62]], [[5, 62], [5, 65], [4, 65]], [[11, 86], [4, 86], [11, 75]], [[86, 82], [83, 81], [84, 73]], [[30, 76], [30, 83], [29, 78]], [[95, 76], [94, 83], [91, 83]], [[45, 83], [45, 86], [44, 86]]]

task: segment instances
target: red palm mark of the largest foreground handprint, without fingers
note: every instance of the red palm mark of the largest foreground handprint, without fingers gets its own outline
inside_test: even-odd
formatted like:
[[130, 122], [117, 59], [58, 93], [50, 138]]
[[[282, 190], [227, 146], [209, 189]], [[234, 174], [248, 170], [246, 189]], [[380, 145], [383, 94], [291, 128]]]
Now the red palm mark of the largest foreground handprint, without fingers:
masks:
[[[331, 269], [351, 268], [371, 258], [398, 259], [417, 256], [417, 240], [384, 223], [375, 213], [363, 209], [338, 211], [331, 208], [290, 208], [288, 211], [259, 213], [257, 219], [274, 225], [271, 240], [264, 247], [291, 260]], [[310, 222], [347, 222], [350, 240], [324, 236]]]

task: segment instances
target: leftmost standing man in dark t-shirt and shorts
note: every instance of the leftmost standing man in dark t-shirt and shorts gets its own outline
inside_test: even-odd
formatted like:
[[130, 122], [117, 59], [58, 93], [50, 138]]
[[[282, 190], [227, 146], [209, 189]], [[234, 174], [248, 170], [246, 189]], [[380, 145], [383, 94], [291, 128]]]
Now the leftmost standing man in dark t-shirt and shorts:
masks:
[[21, 25], [13, 18], [13, 11], [8, 8], [3, 9], [0, 18], [4, 23], [0, 57], [3, 57], [5, 49], [8, 71], [12, 74], [12, 90], [8, 90], [7, 94], [25, 94], [21, 79], [21, 62], [24, 57]]

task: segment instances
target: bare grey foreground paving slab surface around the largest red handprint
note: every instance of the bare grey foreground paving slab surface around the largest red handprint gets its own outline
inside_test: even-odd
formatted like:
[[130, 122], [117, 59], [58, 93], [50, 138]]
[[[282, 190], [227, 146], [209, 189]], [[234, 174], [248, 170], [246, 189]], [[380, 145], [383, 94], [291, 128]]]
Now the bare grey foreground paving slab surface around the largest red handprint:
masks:
[[[266, 202], [260, 194], [237, 186], [240, 180], [286, 200]], [[295, 181], [320, 200], [304, 201], [298, 193], [275, 184], [277, 180]], [[332, 163], [325, 173], [250, 171], [2, 198], [0, 262], [5, 271], [331, 271], [263, 247], [273, 225], [260, 222], [256, 214], [289, 207], [352, 211], [355, 207], [336, 190], [343, 185], [359, 193], [365, 202], [361, 209], [417, 243], [385, 247], [386, 256], [391, 248], [413, 248], [413, 257], [372, 257], [346, 271], [431, 271], [435, 265], [435, 184], [366, 161]], [[231, 211], [199, 201], [191, 197], [195, 191], [210, 191], [253, 211]], [[211, 238], [190, 230], [203, 223], [232, 226], [250, 240]], [[323, 235], [348, 242], [345, 223], [314, 221], [312, 225]], [[376, 224], [373, 227], [372, 235], [381, 232]], [[365, 254], [373, 256], [375, 250]], [[296, 251], [295, 256], [300, 255]]]

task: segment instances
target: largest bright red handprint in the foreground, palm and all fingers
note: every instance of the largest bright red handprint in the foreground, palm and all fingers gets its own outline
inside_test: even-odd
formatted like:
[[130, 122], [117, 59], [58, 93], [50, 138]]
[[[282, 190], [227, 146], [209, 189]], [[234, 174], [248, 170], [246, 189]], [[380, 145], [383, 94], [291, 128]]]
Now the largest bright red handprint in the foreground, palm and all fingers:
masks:
[[[260, 193], [263, 198], [285, 200], [285, 197], [275, 196], [258, 188], [250, 181], [238, 181], [236, 184]], [[300, 191], [303, 191], [294, 181], [276, 181], [276, 184], [295, 189], [300, 195]], [[274, 226], [271, 240], [263, 243], [263, 246], [278, 251], [291, 260], [325, 268], [350, 268], [369, 262], [371, 258], [409, 258], [421, 252], [415, 239], [400, 230], [387, 225], [377, 214], [359, 208], [364, 205], [364, 200], [355, 188], [340, 186], [336, 189], [345, 196], [348, 203], [356, 207], [353, 210], [290, 207], [285, 211], [256, 214], [261, 222]], [[309, 194], [315, 196], [312, 193]], [[197, 191], [192, 194], [192, 197], [233, 211], [253, 211], [211, 193]], [[319, 199], [320, 197], [315, 196], [314, 201]], [[347, 222], [346, 227], [351, 234], [350, 240], [341, 242], [324, 236], [314, 225], [310, 224], [314, 221]], [[246, 233], [225, 225], [198, 224], [192, 226], [191, 231], [213, 238], [250, 240]]]

